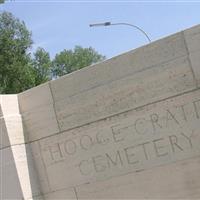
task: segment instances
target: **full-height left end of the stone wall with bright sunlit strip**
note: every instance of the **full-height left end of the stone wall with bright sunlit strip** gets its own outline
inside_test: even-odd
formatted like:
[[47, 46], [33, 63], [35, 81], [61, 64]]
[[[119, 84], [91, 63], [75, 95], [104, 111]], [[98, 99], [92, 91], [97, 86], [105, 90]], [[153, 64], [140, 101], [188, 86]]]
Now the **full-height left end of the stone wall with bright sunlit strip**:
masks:
[[0, 199], [28, 199], [40, 194], [29, 144], [25, 145], [17, 95], [1, 95]]

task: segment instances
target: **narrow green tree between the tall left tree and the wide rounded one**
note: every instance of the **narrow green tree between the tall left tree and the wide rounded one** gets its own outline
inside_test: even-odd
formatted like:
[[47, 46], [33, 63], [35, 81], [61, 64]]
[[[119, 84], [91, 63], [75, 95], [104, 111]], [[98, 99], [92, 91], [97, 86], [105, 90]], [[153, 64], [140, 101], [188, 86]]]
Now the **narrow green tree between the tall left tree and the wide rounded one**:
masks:
[[45, 83], [51, 79], [51, 60], [49, 53], [43, 48], [37, 48], [33, 58], [35, 85]]

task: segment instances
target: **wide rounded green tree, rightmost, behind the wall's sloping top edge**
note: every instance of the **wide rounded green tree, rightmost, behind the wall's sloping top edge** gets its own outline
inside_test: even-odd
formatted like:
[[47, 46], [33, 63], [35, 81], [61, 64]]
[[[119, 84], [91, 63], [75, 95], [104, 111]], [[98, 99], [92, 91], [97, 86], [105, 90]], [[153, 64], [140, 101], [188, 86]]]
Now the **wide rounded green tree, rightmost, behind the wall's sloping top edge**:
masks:
[[59, 77], [104, 59], [105, 56], [100, 55], [91, 47], [76, 46], [73, 50], [65, 49], [56, 54], [52, 62], [52, 74], [54, 77]]

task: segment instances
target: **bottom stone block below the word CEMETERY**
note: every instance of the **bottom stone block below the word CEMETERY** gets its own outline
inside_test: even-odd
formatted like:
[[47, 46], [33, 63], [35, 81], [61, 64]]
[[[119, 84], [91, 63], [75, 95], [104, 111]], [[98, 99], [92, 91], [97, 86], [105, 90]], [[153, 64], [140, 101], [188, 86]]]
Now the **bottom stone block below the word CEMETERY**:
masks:
[[78, 199], [199, 199], [200, 159], [78, 186]]

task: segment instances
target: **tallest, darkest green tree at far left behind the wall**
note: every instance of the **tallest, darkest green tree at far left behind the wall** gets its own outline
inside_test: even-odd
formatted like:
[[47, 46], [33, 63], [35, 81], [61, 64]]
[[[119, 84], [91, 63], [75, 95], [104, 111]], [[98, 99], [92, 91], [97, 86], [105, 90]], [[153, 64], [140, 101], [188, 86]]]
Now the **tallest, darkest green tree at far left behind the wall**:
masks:
[[18, 93], [33, 87], [34, 76], [28, 53], [31, 33], [11, 13], [0, 14], [0, 93]]

